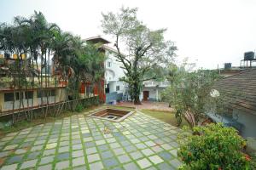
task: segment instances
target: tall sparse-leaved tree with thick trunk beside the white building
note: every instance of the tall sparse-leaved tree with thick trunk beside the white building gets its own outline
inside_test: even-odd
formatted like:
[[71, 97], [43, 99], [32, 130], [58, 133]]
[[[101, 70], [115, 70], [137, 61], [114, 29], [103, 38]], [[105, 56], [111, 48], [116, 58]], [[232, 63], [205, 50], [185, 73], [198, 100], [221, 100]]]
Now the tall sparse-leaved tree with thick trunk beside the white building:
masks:
[[[118, 52], [115, 57], [125, 71], [121, 81], [128, 83], [134, 104], [140, 104], [143, 82], [159, 76], [154, 71], [147, 74], [148, 71], [169, 63], [177, 48], [173, 42], [164, 40], [166, 29], [152, 31], [137, 20], [137, 8], [123, 7], [117, 14], [108, 12], [102, 17], [103, 31], [115, 38], [114, 46]], [[120, 52], [122, 45], [128, 55]]]

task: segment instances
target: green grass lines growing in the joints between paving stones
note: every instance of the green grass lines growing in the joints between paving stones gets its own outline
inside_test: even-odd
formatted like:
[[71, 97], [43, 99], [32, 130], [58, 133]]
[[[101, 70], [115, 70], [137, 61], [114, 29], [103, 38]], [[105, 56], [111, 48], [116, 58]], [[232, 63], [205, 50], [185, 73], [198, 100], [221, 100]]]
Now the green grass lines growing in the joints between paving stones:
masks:
[[[119, 107], [120, 109], [123, 109], [123, 107]], [[81, 113], [80, 113], [81, 114]], [[58, 138], [57, 139], [57, 141], [56, 141], [56, 143], [57, 143], [57, 146], [55, 147], [55, 154], [54, 155], [52, 155], [52, 156], [55, 156], [55, 158], [54, 158], [54, 161], [53, 162], [51, 162], [50, 164], [51, 164], [51, 166], [52, 166], [52, 168], [55, 168], [55, 166], [56, 166], [56, 163], [58, 163], [58, 162], [60, 162], [60, 161], [58, 161], [57, 160], [57, 156], [58, 156], [58, 154], [59, 154], [59, 147], [60, 147], [60, 144], [61, 144], [61, 141], [67, 141], [66, 139], [65, 140], [61, 140], [61, 133], [67, 133], [67, 131], [65, 131], [65, 129], [63, 129], [63, 126], [66, 124], [66, 123], [64, 123], [64, 120], [65, 120], [65, 118], [64, 117], [66, 117], [66, 116], [63, 116], [62, 117], [62, 119], [60, 119], [60, 120], [55, 120], [55, 122], [61, 122], [61, 126], [60, 126], [60, 132], [58, 132], [58, 133], [54, 133], [54, 134], [58, 134], [57, 135], [57, 137], [56, 138]], [[60, 117], [59, 117], [60, 118]], [[86, 150], [85, 150], [85, 145], [84, 145], [84, 137], [83, 137], [83, 133], [82, 133], [82, 127], [84, 127], [84, 126], [82, 126], [81, 125], [81, 123], [83, 123], [83, 122], [80, 122], [79, 121], [79, 116], [78, 115], [74, 115], [74, 114], [72, 114], [70, 117], [68, 117], [68, 119], [69, 119], [69, 158], [68, 159], [65, 159], [65, 160], [61, 160], [61, 161], [69, 161], [69, 168], [72, 168], [72, 164], [73, 164], [73, 132], [79, 132], [79, 135], [80, 135], [80, 139], [81, 139], [81, 144], [82, 144], [82, 149], [83, 149], [83, 152], [84, 152], [84, 161], [85, 161], [85, 164], [84, 164], [84, 166], [86, 166], [87, 168], [89, 168], [90, 167], [90, 165], [89, 165], [89, 163], [88, 163], [88, 158], [87, 158], [87, 154], [86, 154]], [[85, 116], [85, 119], [86, 119], [86, 116]], [[93, 138], [93, 141], [95, 142], [96, 141], [96, 136], [95, 135], [93, 135], [93, 132], [97, 129], [97, 130], [102, 130], [102, 128], [103, 127], [105, 127], [106, 125], [105, 125], [105, 123], [104, 123], [104, 121], [100, 121], [100, 122], [98, 122], [98, 121], [95, 121], [94, 119], [91, 119], [92, 121], [91, 122], [87, 122], [87, 121], [85, 121], [85, 119], [84, 119], [84, 124], [86, 124], [86, 127], [88, 127], [88, 129], [89, 129], [89, 133], [90, 133], [90, 137], [92, 137]], [[77, 123], [77, 124], [76, 124]], [[76, 127], [76, 128], [78, 128], [78, 130], [76, 130], [76, 128], [73, 128], [73, 125], [74, 124], [76, 124], [76, 125], [78, 125], [79, 127]], [[119, 123], [118, 123], [119, 124]], [[92, 129], [90, 129], [89, 127], [90, 127], [90, 125], [93, 125], [93, 126], [95, 126], [94, 128], [92, 128]], [[44, 146], [43, 146], [43, 149], [42, 150], [39, 150], [40, 151], [40, 154], [37, 156], [37, 158], [35, 158], [35, 159], [38, 159], [38, 161], [37, 161], [37, 164], [36, 164], [36, 168], [38, 168], [39, 167], [39, 164], [40, 164], [40, 161], [41, 161], [41, 159], [44, 157], [43, 155], [44, 155], [44, 151], [46, 150], [46, 145], [48, 144], [48, 142], [49, 142], [49, 139], [50, 139], [50, 137], [52, 136], [52, 135], [54, 135], [54, 134], [52, 134], [52, 132], [53, 132], [53, 129], [55, 128], [55, 123], [49, 123], [49, 133], [47, 134], [47, 138], [45, 139], [45, 142], [44, 142]], [[116, 127], [116, 128], [114, 128], [115, 129], [115, 132], [119, 132], [119, 133], [123, 133], [123, 131], [125, 130], [125, 131], [129, 131], [131, 134], [132, 134], [132, 132], [131, 132], [131, 129], [129, 129], [129, 128], [126, 128], [126, 127], [121, 127], [121, 128], [119, 128], [119, 127]], [[42, 126], [41, 128], [40, 128], [40, 130], [39, 130], [39, 132], [38, 132], [38, 134], [39, 133], [42, 133], [44, 131], [44, 127]], [[124, 134], [125, 135], [125, 134]], [[112, 135], [112, 137], [108, 137], [108, 138], [114, 138], [114, 139], [116, 139], [116, 141], [115, 142], [117, 142], [119, 145], [120, 145], [120, 147], [118, 147], [118, 148], [122, 148], [123, 150], [125, 150], [125, 154], [128, 156], [128, 157], [130, 157], [130, 161], [127, 161], [127, 162], [125, 162], [124, 164], [122, 164], [120, 161], [119, 161], [119, 159], [118, 159], [118, 156], [116, 156], [115, 155], [115, 153], [114, 153], [114, 151], [113, 150], [115, 150], [115, 149], [112, 149], [112, 147], [110, 147], [110, 144], [111, 143], [113, 143], [113, 142], [108, 142], [107, 141], [107, 139], [108, 138], [105, 138], [104, 137], [104, 135], [101, 135], [103, 138], [103, 140], [106, 142], [106, 145], [108, 145], [108, 148], [110, 149], [109, 151], [113, 154], [113, 157], [112, 157], [112, 159], [114, 158], [116, 161], [118, 161], [118, 164], [117, 165], [115, 165], [115, 166], [113, 166], [113, 167], [111, 167], [111, 168], [114, 168], [114, 167], [123, 167], [125, 164], [128, 164], [128, 163], [131, 163], [131, 162], [133, 162], [134, 164], [136, 164], [137, 165], [137, 167], [140, 167], [139, 165], [138, 165], [138, 163], [137, 163], [137, 161], [139, 161], [139, 160], [142, 160], [142, 159], [144, 159], [145, 157], [147, 157], [147, 156], [143, 156], [143, 157], [141, 157], [141, 158], [139, 158], [139, 159], [137, 159], [137, 160], [134, 160], [134, 159], [132, 159], [132, 157], [130, 156], [130, 155], [127, 155], [127, 150], [125, 150], [125, 146], [123, 146], [123, 144], [121, 144], [121, 141], [122, 140], [120, 140], [120, 139], [118, 139], [116, 136], [114, 136], [114, 135]], [[36, 136], [36, 137], [32, 137], [32, 138], [35, 138], [34, 140], [33, 140], [33, 142], [32, 142], [32, 145], [37, 141], [36, 140], [36, 138], [38, 138], [38, 136]], [[134, 137], [134, 139], [137, 139], [137, 136], [135, 135], [135, 137]], [[132, 142], [131, 142], [131, 139], [130, 138], [127, 138], [126, 137], [126, 135], [125, 135], [125, 140], [126, 141], [129, 141], [130, 143], [131, 143], [131, 146], [134, 146], [135, 148], [137, 148], [137, 145], [136, 144], [133, 144]], [[151, 140], [151, 139], [148, 139], [148, 140]], [[23, 141], [21, 141], [20, 143], [22, 143]], [[140, 141], [140, 143], [143, 143], [143, 144], [145, 144], [145, 141]], [[20, 145], [20, 144], [19, 144]], [[102, 144], [101, 144], [102, 145]], [[100, 154], [101, 152], [103, 152], [103, 151], [107, 151], [107, 150], [103, 150], [103, 151], [100, 151], [100, 148], [99, 148], [99, 146], [100, 145], [94, 145], [94, 146], [91, 146], [91, 147], [96, 147], [96, 150], [97, 150], [97, 154], [99, 154], [99, 156], [101, 157], [101, 160], [100, 161], [94, 161], [93, 163], [96, 163], [96, 162], [102, 162], [102, 164], [103, 164], [103, 166], [105, 166], [105, 164], [104, 164], [104, 162], [103, 162], [103, 157], [102, 157], [102, 154]], [[43, 151], [44, 150], [44, 151]], [[142, 152], [142, 150], [143, 149], [139, 149], [139, 148], [137, 148], [137, 150], [139, 150], [140, 151], [140, 153], [142, 153], [143, 154], [143, 152]], [[35, 151], [31, 151], [31, 150], [29, 150], [28, 152], [26, 152], [26, 155], [24, 156], [24, 158], [23, 158], [23, 160], [26, 160], [26, 158], [27, 158], [27, 156], [29, 156], [29, 154], [31, 154], [32, 152], [37, 152], [38, 150], [35, 150]], [[134, 152], [134, 151], [132, 151], [132, 152]], [[65, 153], [65, 152], [63, 152], [63, 153]], [[130, 152], [129, 152], [130, 153]], [[158, 155], [157, 153], [154, 153], [154, 154], [156, 154], [156, 155]], [[14, 154], [15, 155], [15, 154]], [[119, 155], [119, 156], [122, 156], [123, 154], [121, 154], [121, 155]], [[10, 157], [10, 156], [9, 156]], [[109, 159], [109, 158], [108, 158]], [[111, 159], [111, 158], [110, 158]], [[109, 159], [109, 160], [110, 160]], [[156, 165], [154, 165], [154, 163], [150, 160], [150, 159], [148, 159], [148, 161], [149, 162], [151, 162], [152, 163], [152, 167], [156, 167]], [[49, 163], [48, 163], [49, 164]], [[22, 163], [19, 163], [19, 167], [18, 168], [20, 168], [20, 166], [22, 165]], [[83, 165], [81, 165], [81, 166], [79, 166], [79, 167], [82, 167]]]

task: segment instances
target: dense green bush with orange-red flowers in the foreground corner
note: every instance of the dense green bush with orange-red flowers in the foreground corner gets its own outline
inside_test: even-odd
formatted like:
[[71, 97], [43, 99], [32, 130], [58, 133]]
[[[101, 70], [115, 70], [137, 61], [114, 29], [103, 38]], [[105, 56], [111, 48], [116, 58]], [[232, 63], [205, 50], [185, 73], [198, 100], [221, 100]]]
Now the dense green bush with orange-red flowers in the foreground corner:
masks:
[[183, 139], [177, 152], [184, 163], [181, 169], [250, 169], [250, 157], [241, 152], [246, 142], [235, 128], [212, 123], [192, 131], [179, 136]]

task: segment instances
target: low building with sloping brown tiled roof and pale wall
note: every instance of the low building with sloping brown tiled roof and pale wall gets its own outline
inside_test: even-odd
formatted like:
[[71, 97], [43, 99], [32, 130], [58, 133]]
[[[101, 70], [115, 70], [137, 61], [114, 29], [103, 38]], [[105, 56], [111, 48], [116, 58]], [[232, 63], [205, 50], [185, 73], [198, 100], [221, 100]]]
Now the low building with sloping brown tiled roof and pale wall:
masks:
[[[227, 113], [214, 113], [216, 122], [236, 127], [244, 138], [256, 137], [256, 69], [225, 77], [215, 84]], [[219, 118], [216, 118], [217, 116]], [[210, 116], [210, 117], [211, 117]]]

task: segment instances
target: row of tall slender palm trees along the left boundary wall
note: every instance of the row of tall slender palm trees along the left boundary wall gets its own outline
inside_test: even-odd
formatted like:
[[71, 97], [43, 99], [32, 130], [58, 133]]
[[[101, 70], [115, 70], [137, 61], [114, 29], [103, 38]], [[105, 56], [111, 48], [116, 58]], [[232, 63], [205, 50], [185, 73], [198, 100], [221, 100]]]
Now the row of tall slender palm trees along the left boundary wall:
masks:
[[[0, 51], [9, 59], [0, 58], [0, 83], [1, 87], [5, 85], [13, 89], [13, 109], [15, 99], [18, 99], [16, 95], [23, 95], [24, 90], [29, 88], [41, 89], [43, 93], [44, 88], [62, 85], [73, 100], [79, 99], [81, 82], [93, 85], [100, 82], [104, 75], [104, 56], [98, 50], [100, 46], [85, 43], [81, 37], [61, 31], [59, 26], [49, 23], [41, 12], [35, 11], [29, 18], [17, 16], [12, 24], [1, 24]], [[49, 105], [49, 95], [41, 94], [41, 104], [43, 97], [46, 97], [46, 106]], [[20, 108], [24, 108], [23, 98], [19, 99]], [[26, 102], [33, 105], [34, 101], [32, 99], [32, 104], [29, 104], [27, 99]], [[58, 115], [63, 105], [59, 107], [50, 113]], [[42, 108], [42, 111], [43, 116], [48, 115], [48, 107]], [[32, 120], [32, 110], [25, 111], [25, 115]]]

